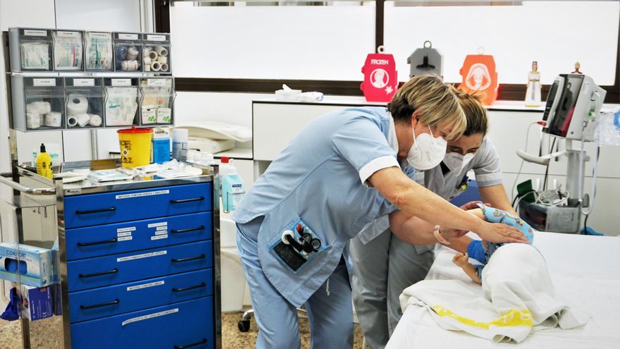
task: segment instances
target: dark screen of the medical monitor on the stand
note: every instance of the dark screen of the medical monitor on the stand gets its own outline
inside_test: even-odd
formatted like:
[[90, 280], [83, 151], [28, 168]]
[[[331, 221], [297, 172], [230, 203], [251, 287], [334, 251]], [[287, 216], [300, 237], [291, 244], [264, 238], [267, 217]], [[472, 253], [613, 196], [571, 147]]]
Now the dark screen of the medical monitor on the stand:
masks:
[[577, 97], [579, 91], [581, 91], [581, 84], [583, 83], [583, 75], [569, 74], [566, 75], [564, 82], [564, 89], [559, 97], [557, 108], [555, 109], [555, 115], [553, 116], [548, 133], [552, 135], [558, 135], [560, 137], [566, 137], [566, 133], [569, 131], [573, 113], [575, 111], [575, 105], [577, 104]]

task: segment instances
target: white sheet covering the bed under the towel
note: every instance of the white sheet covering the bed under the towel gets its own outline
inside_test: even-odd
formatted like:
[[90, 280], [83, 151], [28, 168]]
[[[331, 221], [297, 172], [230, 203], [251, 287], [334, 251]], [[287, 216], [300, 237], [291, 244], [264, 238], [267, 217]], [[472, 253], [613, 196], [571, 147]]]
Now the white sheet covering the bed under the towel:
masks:
[[[530, 334], [518, 344], [519, 348], [620, 348], [620, 237], [540, 232], [535, 235], [534, 245], [547, 261], [557, 294], [570, 305], [590, 312], [593, 318], [577, 329], [550, 329]], [[452, 264], [453, 255], [452, 250], [439, 247], [426, 279], [471, 282]], [[386, 348], [484, 349], [513, 345], [444, 330], [426, 308], [409, 305]]]

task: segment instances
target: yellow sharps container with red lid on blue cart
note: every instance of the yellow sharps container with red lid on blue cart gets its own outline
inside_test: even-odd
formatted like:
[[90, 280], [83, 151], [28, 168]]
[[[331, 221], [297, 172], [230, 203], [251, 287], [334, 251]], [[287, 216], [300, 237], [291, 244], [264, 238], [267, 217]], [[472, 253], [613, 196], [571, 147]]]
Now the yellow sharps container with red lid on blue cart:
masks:
[[120, 142], [120, 159], [123, 167], [144, 166], [151, 163], [150, 128], [125, 128], [116, 131]]

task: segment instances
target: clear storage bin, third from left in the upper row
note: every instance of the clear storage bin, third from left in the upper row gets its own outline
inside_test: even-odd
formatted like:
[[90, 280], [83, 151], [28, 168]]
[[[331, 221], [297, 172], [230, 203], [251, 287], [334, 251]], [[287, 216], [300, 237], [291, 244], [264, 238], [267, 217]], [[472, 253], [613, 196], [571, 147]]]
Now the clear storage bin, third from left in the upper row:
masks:
[[114, 51], [111, 32], [84, 32], [86, 71], [113, 71]]

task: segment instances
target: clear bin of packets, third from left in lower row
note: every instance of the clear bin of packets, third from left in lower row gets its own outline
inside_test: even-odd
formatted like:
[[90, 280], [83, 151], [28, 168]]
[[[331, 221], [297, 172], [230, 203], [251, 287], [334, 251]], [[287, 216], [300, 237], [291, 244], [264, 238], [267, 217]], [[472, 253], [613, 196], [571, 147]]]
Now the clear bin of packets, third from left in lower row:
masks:
[[106, 126], [137, 125], [140, 87], [137, 78], [104, 79]]

